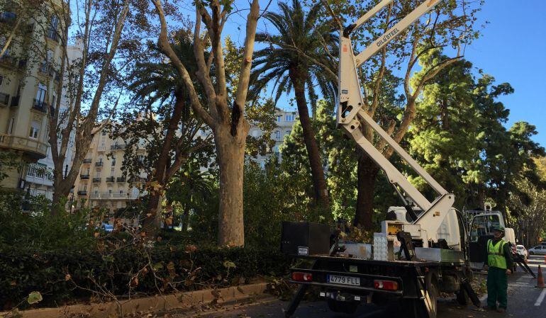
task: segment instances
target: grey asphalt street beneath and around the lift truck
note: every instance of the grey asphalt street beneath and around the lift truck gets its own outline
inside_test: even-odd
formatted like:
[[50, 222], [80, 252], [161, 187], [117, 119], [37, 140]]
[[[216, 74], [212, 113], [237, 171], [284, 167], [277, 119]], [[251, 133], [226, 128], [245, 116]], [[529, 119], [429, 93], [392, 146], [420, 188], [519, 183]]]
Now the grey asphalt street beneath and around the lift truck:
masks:
[[[543, 268], [544, 256], [530, 256], [528, 266], [537, 273], [538, 265]], [[544, 269], [542, 270], [544, 273]], [[485, 275], [477, 273], [477, 275]], [[474, 306], [462, 307], [457, 304], [454, 298], [441, 298], [438, 300], [438, 317], [546, 317], [546, 289], [535, 288], [537, 280], [524, 273], [518, 267], [518, 271], [508, 278], [508, 311], [500, 314], [498, 312], [477, 310]], [[486, 295], [481, 297], [482, 304], [486, 302]], [[288, 302], [282, 302], [274, 298], [261, 300], [248, 306], [228, 306], [224, 310], [216, 312], [194, 314], [193, 317], [206, 318], [240, 318], [240, 317], [270, 317], [284, 318], [284, 308]], [[176, 316], [178, 317], [178, 316]], [[179, 317], [182, 317], [179, 316]], [[184, 317], [188, 317], [187, 313]], [[396, 305], [377, 307], [374, 305], [361, 305], [353, 315], [338, 314], [330, 312], [325, 302], [302, 302], [293, 316], [294, 318], [320, 318], [320, 317], [355, 317], [355, 318], [383, 318], [401, 317], [399, 308]]]

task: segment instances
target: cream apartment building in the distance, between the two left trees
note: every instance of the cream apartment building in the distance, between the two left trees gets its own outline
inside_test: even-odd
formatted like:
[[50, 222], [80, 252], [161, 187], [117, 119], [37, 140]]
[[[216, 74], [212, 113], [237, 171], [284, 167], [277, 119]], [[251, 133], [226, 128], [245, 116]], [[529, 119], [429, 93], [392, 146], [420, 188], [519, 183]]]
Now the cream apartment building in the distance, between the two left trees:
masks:
[[[130, 200], [141, 193], [138, 183], [143, 183], [146, 174], [135, 180], [123, 176], [121, 166], [126, 144], [121, 139], [113, 139], [104, 128], [94, 132], [93, 141], [74, 183], [74, 191], [69, 196], [72, 208], [106, 208], [111, 213], [125, 208]], [[140, 144], [138, 154], [144, 160], [144, 144]]]

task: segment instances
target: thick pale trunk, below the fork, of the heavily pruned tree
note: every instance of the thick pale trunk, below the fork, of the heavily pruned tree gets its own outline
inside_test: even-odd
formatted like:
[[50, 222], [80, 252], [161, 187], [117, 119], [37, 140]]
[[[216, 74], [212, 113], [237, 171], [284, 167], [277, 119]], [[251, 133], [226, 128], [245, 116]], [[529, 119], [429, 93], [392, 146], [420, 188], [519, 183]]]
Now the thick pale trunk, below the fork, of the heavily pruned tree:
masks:
[[[248, 129], [246, 128], [246, 131]], [[229, 125], [220, 125], [214, 134], [220, 167], [220, 210], [218, 211], [218, 246], [243, 246], [243, 167], [245, 132], [232, 136]]]

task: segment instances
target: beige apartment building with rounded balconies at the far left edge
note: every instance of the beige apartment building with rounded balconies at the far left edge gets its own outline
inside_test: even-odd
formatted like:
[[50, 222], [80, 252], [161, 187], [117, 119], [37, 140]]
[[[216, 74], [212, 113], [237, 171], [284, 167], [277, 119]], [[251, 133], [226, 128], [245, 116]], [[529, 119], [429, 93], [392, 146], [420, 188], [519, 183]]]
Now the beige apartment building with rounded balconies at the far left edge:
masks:
[[[36, 163], [48, 156], [48, 113], [54, 110], [55, 87], [59, 84], [54, 62], [62, 52], [60, 20], [55, 16], [31, 16], [18, 21], [21, 17], [16, 12], [20, 11], [16, 1], [4, 1], [0, 8], [3, 30], [19, 23], [19, 32], [0, 57], [0, 151], [11, 150], [19, 160]], [[47, 30], [45, 37], [41, 30]], [[1, 47], [6, 40], [6, 35], [0, 35]], [[36, 62], [40, 58], [31, 49], [32, 43], [47, 50], [41, 62]], [[1, 185], [26, 188], [26, 174], [24, 169], [8, 171]]]

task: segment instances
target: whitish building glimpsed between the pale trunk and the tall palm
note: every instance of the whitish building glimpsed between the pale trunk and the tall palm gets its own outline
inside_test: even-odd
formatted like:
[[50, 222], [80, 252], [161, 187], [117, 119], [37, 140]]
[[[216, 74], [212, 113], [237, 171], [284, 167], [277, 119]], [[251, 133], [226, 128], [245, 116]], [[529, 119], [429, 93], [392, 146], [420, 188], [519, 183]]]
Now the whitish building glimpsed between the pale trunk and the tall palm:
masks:
[[[275, 110], [275, 123], [277, 127], [272, 131], [271, 139], [274, 140], [275, 145], [272, 147], [271, 152], [281, 159], [281, 153], [279, 152], [279, 147], [284, 143], [284, 136], [290, 135], [294, 123], [296, 123], [297, 117], [296, 111], [282, 110], [277, 108]], [[263, 135], [262, 130], [257, 125], [250, 125], [250, 131], [248, 132], [252, 137], [260, 137]], [[265, 166], [265, 161], [267, 161], [268, 155], [262, 156], [259, 154], [255, 159], [262, 168]]]

